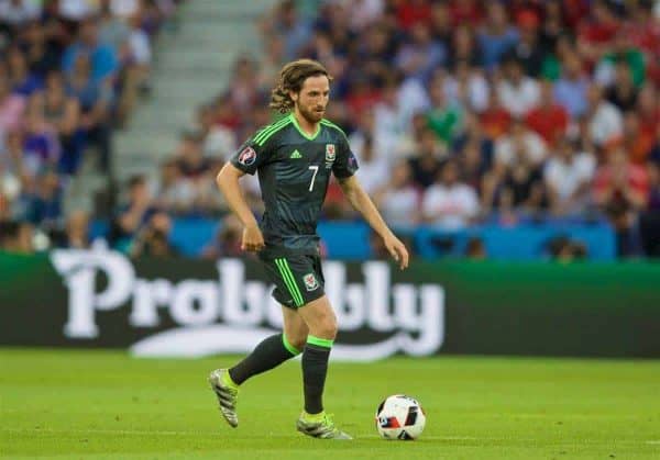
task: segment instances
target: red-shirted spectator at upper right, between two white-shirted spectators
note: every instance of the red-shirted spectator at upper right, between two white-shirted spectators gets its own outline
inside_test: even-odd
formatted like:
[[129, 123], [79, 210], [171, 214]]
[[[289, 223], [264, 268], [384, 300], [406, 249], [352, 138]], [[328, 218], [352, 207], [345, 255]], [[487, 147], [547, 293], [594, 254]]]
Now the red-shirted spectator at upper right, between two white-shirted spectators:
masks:
[[525, 117], [527, 126], [536, 131], [549, 145], [553, 145], [558, 136], [569, 127], [569, 113], [554, 102], [552, 82], [541, 82], [539, 104], [530, 110]]

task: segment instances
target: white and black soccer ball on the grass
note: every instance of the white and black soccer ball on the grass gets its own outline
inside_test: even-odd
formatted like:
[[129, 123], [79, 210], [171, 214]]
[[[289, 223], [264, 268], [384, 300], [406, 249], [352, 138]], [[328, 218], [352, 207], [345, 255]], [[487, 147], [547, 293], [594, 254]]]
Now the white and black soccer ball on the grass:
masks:
[[404, 394], [387, 397], [376, 409], [376, 428], [385, 439], [417, 439], [426, 415], [417, 400]]

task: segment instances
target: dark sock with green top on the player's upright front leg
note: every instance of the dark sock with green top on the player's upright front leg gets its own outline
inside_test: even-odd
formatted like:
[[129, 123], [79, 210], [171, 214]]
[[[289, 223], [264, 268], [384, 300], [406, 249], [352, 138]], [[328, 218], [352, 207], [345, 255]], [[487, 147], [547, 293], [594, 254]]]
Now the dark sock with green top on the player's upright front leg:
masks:
[[302, 384], [305, 412], [308, 414], [319, 414], [323, 411], [323, 386], [331, 348], [332, 340], [311, 335], [307, 337], [302, 351]]

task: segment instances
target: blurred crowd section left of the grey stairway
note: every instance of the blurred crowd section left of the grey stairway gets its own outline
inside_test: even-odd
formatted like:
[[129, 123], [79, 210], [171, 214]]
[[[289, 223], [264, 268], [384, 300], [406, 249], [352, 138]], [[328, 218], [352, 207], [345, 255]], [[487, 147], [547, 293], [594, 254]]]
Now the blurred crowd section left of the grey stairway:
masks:
[[148, 92], [152, 37], [177, 3], [0, 2], [0, 247], [88, 244], [91, 216], [64, 215], [65, 191], [84, 156], [110, 173], [112, 132]]

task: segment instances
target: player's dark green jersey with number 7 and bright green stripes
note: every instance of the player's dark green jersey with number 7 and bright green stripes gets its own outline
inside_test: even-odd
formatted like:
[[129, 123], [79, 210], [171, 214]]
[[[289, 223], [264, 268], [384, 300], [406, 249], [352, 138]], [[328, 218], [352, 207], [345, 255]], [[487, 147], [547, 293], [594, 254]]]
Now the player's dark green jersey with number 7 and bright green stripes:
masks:
[[330, 175], [343, 179], [358, 170], [343, 131], [322, 120], [310, 136], [293, 114], [256, 132], [230, 161], [249, 175], [258, 171], [266, 247], [307, 254], [318, 253], [316, 228]]

